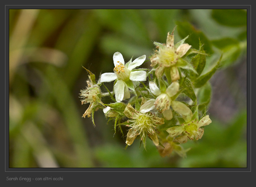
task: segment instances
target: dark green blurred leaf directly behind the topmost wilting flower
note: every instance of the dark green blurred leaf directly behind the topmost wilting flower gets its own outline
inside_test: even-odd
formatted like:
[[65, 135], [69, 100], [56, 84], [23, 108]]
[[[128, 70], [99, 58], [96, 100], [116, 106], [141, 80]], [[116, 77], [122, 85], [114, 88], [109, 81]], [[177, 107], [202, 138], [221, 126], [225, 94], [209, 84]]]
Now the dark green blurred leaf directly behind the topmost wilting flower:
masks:
[[198, 39], [200, 38], [201, 42], [204, 44], [204, 49], [206, 53], [213, 53], [211, 42], [208, 40], [208, 38], [204, 35], [202, 31], [197, 30], [193, 25], [191, 25], [188, 22], [177, 21], [176, 24], [178, 25], [177, 30], [181, 38], [185, 38], [187, 37], [187, 35], [190, 36], [186, 40], [188, 44], [192, 45], [194, 48], [197, 48]]

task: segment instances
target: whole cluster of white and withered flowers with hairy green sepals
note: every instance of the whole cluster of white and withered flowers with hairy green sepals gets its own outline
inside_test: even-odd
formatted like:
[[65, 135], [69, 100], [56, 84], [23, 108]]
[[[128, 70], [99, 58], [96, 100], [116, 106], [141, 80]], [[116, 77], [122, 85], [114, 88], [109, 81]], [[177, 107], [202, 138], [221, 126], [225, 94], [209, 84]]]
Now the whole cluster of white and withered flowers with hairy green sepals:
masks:
[[[162, 157], [172, 151], [184, 157], [188, 150], [181, 144], [201, 139], [201, 127], [212, 122], [205, 110], [207, 103], [199, 105], [196, 95], [208, 81], [200, 76], [207, 54], [200, 42], [199, 50], [184, 43], [187, 37], [175, 44], [174, 30], [167, 34], [166, 44], [154, 42], [157, 50], [148, 57], [152, 69], [138, 68], [146, 55], [125, 63], [123, 55], [116, 52], [114, 72], [104, 72], [96, 82], [95, 75], [86, 69], [90, 81], [80, 93], [81, 103], [90, 103], [83, 117], [92, 116], [94, 124], [94, 112], [102, 109], [114, 121], [115, 130], [118, 127], [123, 133], [126, 129], [127, 146], [139, 139], [146, 148], [148, 137]], [[110, 91], [104, 83], [112, 81]], [[103, 97], [110, 97], [113, 102], [103, 103]]]

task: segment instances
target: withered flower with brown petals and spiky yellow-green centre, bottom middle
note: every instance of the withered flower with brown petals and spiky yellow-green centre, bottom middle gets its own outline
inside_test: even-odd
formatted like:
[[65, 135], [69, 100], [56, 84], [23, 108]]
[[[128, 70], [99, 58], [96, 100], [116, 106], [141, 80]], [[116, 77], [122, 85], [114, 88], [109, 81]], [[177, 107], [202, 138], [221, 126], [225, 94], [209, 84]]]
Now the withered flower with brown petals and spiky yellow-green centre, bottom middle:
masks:
[[159, 140], [155, 131], [158, 125], [164, 124], [163, 118], [158, 118], [151, 113], [141, 113], [136, 111], [130, 103], [126, 106], [124, 114], [129, 118], [129, 127], [131, 127], [127, 133], [126, 144], [131, 145], [135, 138], [140, 135], [145, 146], [146, 135], [158, 146]]

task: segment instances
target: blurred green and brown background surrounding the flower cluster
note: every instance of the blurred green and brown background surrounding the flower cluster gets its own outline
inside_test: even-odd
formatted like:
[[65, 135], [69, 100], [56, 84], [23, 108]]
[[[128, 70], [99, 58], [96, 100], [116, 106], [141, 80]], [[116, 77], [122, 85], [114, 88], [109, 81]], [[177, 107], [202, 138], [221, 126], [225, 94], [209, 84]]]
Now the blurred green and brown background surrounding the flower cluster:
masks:
[[[9, 167], [247, 167], [247, 17], [244, 9], [10, 9], [9, 10]], [[210, 80], [212, 123], [199, 141], [189, 141], [186, 158], [160, 157], [152, 142], [125, 150], [102, 111], [81, 118], [80, 89], [90, 69], [112, 72], [113, 54], [127, 62], [165, 43], [194, 48], [199, 38], [206, 67], [223, 54]], [[150, 68], [150, 62], [143, 66]], [[207, 70], [207, 68], [206, 68]], [[112, 90], [113, 83], [106, 86]], [[106, 91], [106, 90], [103, 90]], [[110, 102], [109, 98], [104, 100]], [[124, 129], [127, 130], [127, 129]]]

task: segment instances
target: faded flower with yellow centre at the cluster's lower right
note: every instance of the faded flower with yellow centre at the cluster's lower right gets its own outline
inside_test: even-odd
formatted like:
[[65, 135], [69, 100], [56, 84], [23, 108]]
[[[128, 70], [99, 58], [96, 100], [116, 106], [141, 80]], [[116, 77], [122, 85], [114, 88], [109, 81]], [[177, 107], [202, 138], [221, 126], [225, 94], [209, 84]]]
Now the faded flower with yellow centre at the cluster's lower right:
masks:
[[200, 127], [209, 125], [210, 123], [212, 123], [212, 121], [209, 118], [209, 115], [207, 115], [203, 117], [200, 121], [194, 119], [187, 123], [181, 124], [181, 126], [171, 127], [166, 131], [170, 134], [170, 137], [176, 137], [181, 135], [175, 138], [173, 142], [186, 143], [188, 139], [201, 139], [204, 133], [204, 129]]

